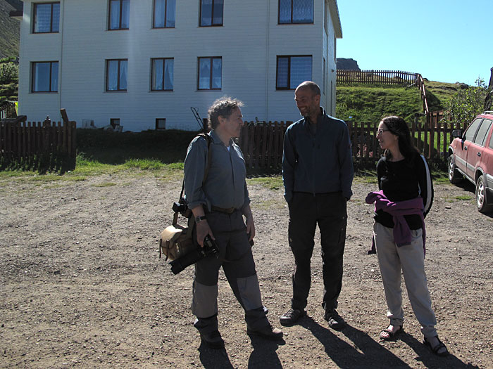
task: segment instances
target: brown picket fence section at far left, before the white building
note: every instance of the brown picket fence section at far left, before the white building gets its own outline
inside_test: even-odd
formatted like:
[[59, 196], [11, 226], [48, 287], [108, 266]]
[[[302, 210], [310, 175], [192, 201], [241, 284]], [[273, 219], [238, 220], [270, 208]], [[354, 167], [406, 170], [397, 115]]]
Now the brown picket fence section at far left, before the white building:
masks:
[[1, 122], [0, 158], [32, 160], [42, 155], [63, 156], [75, 163], [75, 122]]

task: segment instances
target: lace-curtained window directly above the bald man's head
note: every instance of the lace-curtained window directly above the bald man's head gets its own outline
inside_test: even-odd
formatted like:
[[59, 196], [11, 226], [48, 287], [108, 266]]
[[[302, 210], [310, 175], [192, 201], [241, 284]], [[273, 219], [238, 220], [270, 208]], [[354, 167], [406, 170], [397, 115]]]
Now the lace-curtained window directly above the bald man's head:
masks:
[[294, 90], [304, 81], [311, 81], [311, 56], [277, 56], [275, 89]]

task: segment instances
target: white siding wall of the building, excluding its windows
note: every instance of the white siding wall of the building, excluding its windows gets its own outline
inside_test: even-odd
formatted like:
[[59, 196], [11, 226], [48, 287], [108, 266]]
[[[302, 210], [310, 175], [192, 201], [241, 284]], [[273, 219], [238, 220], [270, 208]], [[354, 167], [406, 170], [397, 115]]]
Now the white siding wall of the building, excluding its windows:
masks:
[[[141, 131], [166, 118], [167, 129], [199, 129], [190, 107], [204, 118], [225, 95], [244, 101], [245, 120], [297, 120], [294, 91], [275, 89], [277, 56], [312, 55], [320, 86], [323, 53], [327, 70], [334, 65], [332, 23], [324, 38], [325, 0], [315, 0], [313, 25], [277, 25], [277, 0], [225, 1], [223, 27], [199, 27], [199, 0], [177, 0], [176, 25], [168, 29], [152, 28], [153, 0], [131, 0], [130, 30], [118, 31], [107, 30], [108, 1], [61, 0], [55, 34], [30, 32], [33, 2], [25, 1], [20, 44], [19, 109], [30, 121], [58, 120], [65, 108], [79, 127], [82, 119], [104, 127], [119, 118], [125, 130]], [[197, 90], [201, 56], [222, 57], [221, 91]], [[106, 60], [116, 58], [128, 59], [126, 92], [105, 91]], [[151, 91], [151, 58], [174, 58], [174, 91]], [[30, 64], [47, 60], [59, 61], [58, 93], [31, 93]]]

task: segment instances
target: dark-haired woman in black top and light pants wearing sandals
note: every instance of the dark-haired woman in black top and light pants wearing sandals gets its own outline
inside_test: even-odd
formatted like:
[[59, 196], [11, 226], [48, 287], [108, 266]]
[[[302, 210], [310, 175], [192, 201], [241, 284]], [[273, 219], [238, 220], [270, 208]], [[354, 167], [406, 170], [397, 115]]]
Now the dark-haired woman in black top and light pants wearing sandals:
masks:
[[401, 271], [414, 314], [421, 325], [423, 343], [439, 356], [448, 354], [439, 340], [425, 274], [423, 219], [432, 204], [433, 187], [428, 164], [411, 143], [409, 127], [400, 117], [385, 117], [377, 139], [385, 150], [377, 163], [379, 193], [368, 194], [375, 202], [374, 240], [387, 300], [389, 326], [380, 338], [402, 332]]

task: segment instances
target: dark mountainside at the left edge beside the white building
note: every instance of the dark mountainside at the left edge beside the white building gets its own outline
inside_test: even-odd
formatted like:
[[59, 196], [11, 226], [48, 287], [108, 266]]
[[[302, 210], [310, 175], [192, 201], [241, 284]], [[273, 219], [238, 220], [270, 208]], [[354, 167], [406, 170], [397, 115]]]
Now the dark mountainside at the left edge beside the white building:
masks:
[[19, 56], [20, 22], [8, 14], [22, 8], [20, 0], [0, 0], [0, 58]]

